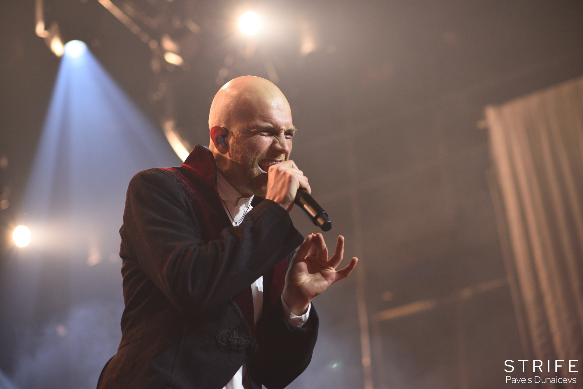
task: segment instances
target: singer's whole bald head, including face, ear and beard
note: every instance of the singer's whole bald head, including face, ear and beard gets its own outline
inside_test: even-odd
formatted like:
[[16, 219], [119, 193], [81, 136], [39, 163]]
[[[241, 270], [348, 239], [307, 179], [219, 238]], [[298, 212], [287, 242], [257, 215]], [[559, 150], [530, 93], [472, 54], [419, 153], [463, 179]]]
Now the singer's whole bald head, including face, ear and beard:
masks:
[[230, 80], [210, 106], [209, 150], [219, 172], [245, 196], [265, 196], [266, 171], [289, 159], [295, 132], [287, 99], [261, 77]]

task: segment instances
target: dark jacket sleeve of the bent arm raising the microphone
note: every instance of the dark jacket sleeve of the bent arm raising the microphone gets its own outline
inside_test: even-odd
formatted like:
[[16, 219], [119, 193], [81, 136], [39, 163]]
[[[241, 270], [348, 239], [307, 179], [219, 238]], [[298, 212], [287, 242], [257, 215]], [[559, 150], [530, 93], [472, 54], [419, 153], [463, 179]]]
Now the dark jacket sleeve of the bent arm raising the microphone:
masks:
[[160, 169], [129, 183], [122, 252], [182, 312], [216, 308], [247, 288], [302, 241], [279, 204], [264, 200], [237, 227], [204, 242], [188, 198]]

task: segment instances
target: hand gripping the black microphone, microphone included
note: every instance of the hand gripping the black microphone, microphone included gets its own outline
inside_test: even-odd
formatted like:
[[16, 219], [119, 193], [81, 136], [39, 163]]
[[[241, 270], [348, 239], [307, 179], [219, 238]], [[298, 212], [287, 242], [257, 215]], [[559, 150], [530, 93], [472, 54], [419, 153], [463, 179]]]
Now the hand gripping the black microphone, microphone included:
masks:
[[328, 214], [310, 196], [308, 178], [297, 168], [294, 161], [274, 162], [268, 171], [266, 199], [280, 204], [288, 212], [297, 204], [303, 213], [323, 231], [332, 228]]

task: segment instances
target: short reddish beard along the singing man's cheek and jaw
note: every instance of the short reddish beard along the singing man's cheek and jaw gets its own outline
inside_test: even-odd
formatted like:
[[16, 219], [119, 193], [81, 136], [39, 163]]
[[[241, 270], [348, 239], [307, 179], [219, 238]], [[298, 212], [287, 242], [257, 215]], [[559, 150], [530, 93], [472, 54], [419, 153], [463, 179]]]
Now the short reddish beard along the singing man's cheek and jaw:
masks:
[[[266, 155], [250, 155], [249, 150], [243, 147], [238, 132], [231, 132], [229, 143], [229, 174], [236, 175], [245, 185], [244, 190], [253, 195], [265, 197], [267, 194], [267, 179], [264, 175], [257, 175], [258, 163], [266, 158]], [[241, 188], [243, 189], [243, 188]]]

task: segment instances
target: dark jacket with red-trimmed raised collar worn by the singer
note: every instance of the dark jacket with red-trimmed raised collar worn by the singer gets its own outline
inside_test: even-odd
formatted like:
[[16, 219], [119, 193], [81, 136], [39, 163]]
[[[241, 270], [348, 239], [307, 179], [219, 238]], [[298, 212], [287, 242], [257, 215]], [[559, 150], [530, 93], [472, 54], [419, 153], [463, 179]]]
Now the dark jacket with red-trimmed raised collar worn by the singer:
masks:
[[[180, 167], [134, 176], [120, 229], [122, 338], [98, 389], [221, 389], [244, 362], [253, 388], [283, 388], [303, 372], [318, 316], [312, 304], [308, 323], [290, 327], [280, 301], [287, 260], [303, 239], [279, 204], [257, 200], [233, 227], [203, 146]], [[254, 327], [250, 285], [261, 275]]]

